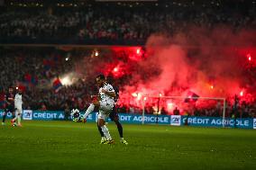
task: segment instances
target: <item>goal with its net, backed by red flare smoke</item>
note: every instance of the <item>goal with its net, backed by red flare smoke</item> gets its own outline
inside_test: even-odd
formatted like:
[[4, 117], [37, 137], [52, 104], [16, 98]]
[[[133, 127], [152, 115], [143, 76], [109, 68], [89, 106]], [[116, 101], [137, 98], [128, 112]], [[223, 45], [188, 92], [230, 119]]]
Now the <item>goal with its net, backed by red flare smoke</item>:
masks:
[[[184, 97], [184, 96], [144, 96], [142, 98], [142, 123], [145, 114], [182, 115], [189, 117], [221, 118], [222, 126], [225, 120], [226, 102], [224, 98], [216, 97]], [[219, 119], [220, 120], [220, 119]], [[158, 119], [157, 119], [158, 121]], [[192, 123], [187, 119], [187, 124]], [[158, 123], [158, 122], [156, 122]]]

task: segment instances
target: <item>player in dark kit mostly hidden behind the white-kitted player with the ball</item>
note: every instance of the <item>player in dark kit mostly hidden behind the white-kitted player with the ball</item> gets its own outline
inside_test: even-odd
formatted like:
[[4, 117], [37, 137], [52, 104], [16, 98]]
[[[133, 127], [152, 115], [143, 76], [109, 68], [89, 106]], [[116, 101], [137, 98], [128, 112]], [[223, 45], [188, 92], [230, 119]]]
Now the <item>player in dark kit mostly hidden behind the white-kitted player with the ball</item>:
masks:
[[[114, 92], [116, 94], [114, 102], [116, 103], [117, 100], [118, 100], [118, 97], [119, 97], [119, 89], [116, 86], [114, 86]], [[122, 124], [119, 121], [119, 116], [118, 116], [115, 104], [114, 104], [114, 108], [113, 108], [112, 112], [110, 112], [110, 114], [109, 114], [109, 118], [111, 119], [111, 121], [114, 121], [114, 123], [116, 124], [117, 130], [118, 130], [119, 136], [120, 136], [120, 142], [125, 144], [125, 145], [128, 145], [128, 142], [123, 139], [123, 126], [122, 126]], [[102, 129], [98, 125], [97, 125], [97, 128], [98, 128], [98, 131], [99, 131], [99, 133], [101, 135], [101, 142], [100, 143], [104, 144], [106, 142], [104, 133], [103, 133]]]

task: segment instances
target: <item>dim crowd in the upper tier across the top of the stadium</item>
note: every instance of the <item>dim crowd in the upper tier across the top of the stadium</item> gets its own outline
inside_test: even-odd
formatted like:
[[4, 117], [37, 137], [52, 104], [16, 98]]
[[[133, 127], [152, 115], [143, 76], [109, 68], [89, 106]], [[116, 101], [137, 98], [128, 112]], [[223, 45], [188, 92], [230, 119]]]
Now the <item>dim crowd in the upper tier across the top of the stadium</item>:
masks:
[[7, 8], [0, 12], [0, 36], [32, 40], [146, 40], [151, 33], [171, 36], [193, 26], [213, 29], [224, 24], [239, 31], [255, 29], [256, 25], [252, 7], [246, 12], [219, 6], [127, 8], [117, 4], [111, 11], [98, 4], [51, 10]]

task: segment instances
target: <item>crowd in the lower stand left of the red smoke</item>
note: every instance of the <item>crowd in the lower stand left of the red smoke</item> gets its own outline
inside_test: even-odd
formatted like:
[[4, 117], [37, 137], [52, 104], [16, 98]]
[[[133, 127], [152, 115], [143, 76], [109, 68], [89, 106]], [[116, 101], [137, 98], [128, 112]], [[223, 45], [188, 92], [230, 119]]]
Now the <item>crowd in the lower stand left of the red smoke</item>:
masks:
[[60, 57], [61, 54], [45, 51], [45, 48], [30, 52], [23, 49], [7, 51], [0, 60], [0, 85], [5, 90], [11, 85], [23, 88], [24, 108], [58, 110], [69, 100], [81, 101], [78, 95], [83, 94], [85, 89], [82, 83], [65, 87], [59, 93], [51, 90], [54, 78], [72, 69], [72, 61], [66, 62], [65, 58]]

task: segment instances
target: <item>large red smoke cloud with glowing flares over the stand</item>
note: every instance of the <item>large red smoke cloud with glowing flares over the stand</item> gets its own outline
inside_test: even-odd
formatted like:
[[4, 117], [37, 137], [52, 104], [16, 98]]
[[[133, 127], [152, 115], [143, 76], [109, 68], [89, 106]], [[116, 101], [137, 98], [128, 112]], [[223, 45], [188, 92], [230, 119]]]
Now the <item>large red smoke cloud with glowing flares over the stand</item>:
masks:
[[[91, 58], [90, 62], [85, 58], [83, 67], [88, 71], [84, 74], [95, 76], [101, 72], [118, 78], [123, 85], [120, 103], [127, 105], [142, 106], [143, 97], [133, 97], [133, 93], [187, 96], [193, 92], [201, 97], [232, 98], [243, 92], [241, 97], [249, 101], [256, 94], [256, 76], [250, 75], [256, 64], [255, 35], [255, 31], [248, 30], [233, 33], [224, 26], [213, 30], [191, 27], [172, 37], [155, 34], [144, 49], [112, 47], [107, 57]], [[181, 100], [165, 103], [174, 109]]]

